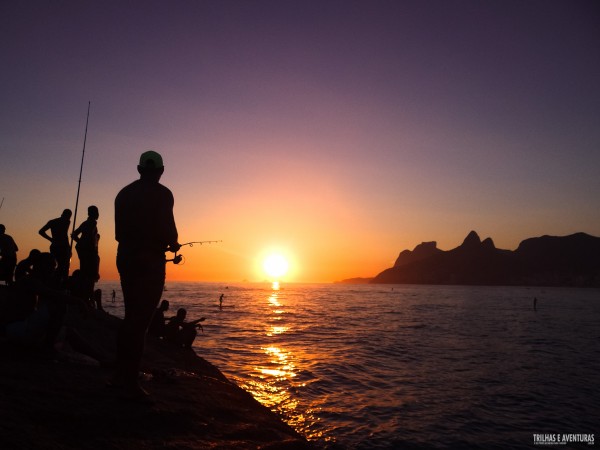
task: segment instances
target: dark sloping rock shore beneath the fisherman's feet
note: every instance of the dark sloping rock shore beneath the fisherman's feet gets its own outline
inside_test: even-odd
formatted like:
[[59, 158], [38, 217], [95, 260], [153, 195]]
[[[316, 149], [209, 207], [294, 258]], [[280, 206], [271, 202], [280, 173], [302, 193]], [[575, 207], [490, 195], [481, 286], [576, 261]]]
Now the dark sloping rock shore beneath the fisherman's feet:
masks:
[[[110, 358], [119, 322], [70, 311], [66, 330]], [[143, 361], [151, 405], [107, 387], [112, 369], [73, 350], [73, 339], [51, 356], [6, 341], [0, 349], [3, 449], [314, 448], [215, 366], [157, 339], [148, 339]]]

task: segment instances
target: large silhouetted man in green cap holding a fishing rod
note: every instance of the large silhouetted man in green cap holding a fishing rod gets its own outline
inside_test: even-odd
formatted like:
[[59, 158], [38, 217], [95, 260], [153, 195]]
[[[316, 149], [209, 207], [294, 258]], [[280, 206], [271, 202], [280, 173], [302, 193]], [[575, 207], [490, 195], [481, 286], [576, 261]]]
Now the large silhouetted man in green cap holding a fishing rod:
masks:
[[165, 285], [165, 252], [176, 252], [177, 227], [171, 191], [159, 183], [163, 160], [155, 151], [140, 156], [140, 178], [125, 186], [115, 199], [117, 269], [125, 305], [125, 317], [117, 336], [117, 367], [110, 385], [125, 389], [127, 396], [143, 400], [140, 370], [148, 326]]

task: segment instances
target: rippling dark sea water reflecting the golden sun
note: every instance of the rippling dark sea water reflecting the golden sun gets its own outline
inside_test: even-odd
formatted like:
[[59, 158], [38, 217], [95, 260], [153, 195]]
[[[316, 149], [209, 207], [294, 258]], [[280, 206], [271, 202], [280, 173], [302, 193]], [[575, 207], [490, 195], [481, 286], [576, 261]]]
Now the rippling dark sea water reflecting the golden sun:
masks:
[[[101, 287], [119, 314], [118, 285]], [[200, 356], [323, 448], [600, 445], [600, 290], [168, 283], [163, 298], [206, 317]]]

